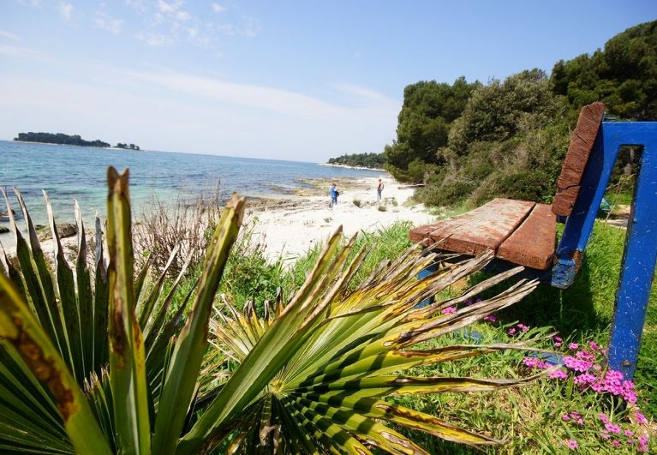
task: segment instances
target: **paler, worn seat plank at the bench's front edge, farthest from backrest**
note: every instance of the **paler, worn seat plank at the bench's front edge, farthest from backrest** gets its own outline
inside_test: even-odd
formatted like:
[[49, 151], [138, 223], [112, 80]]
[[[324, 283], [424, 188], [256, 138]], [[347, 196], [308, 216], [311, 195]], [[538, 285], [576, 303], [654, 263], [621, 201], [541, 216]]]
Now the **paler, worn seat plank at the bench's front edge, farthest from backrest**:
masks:
[[493, 199], [470, 212], [450, 218], [430, 234], [433, 242], [443, 240], [441, 248], [464, 254], [497, 251], [528, 216], [535, 203], [513, 199]]

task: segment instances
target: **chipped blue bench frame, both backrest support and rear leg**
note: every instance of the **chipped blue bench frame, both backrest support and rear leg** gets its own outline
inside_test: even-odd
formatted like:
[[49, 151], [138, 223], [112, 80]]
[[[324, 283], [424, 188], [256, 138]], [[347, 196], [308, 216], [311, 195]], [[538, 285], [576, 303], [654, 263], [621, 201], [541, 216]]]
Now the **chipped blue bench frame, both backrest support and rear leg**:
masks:
[[552, 285], [565, 289], [593, 230], [604, 191], [623, 146], [643, 148], [616, 291], [609, 366], [633, 377], [657, 261], [657, 122], [604, 120], [581, 180], [581, 189], [556, 249]]

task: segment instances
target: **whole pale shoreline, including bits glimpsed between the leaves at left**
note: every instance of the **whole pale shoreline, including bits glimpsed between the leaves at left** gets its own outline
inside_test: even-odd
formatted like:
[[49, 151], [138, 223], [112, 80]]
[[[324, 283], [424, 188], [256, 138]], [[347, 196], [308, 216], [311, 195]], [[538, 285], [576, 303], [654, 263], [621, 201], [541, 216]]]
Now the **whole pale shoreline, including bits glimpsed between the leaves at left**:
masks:
[[[289, 263], [326, 241], [340, 225], [345, 237], [351, 237], [359, 231], [375, 231], [401, 221], [415, 226], [434, 221], [435, 217], [424, 211], [423, 204], [407, 206], [413, 189], [400, 185], [390, 176], [381, 177], [385, 187], [378, 204], [378, 178], [315, 179], [311, 180], [312, 188], [302, 188], [296, 195], [247, 197], [242, 229], [255, 223], [254, 241], [260, 243], [267, 260], [275, 262], [282, 258]], [[338, 181], [340, 197], [338, 204], [330, 207], [328, 189], [334, 180]], [[133, 212], [133, 220], [138, 226], [139, 213]], [[19, 227], [20, 224], [18, 221]], [[7, 254], [15, 256], [13, 233], [0, 235], [0, 241]], [[62, 240], [62, 246], [76, 244], [77, 236]], [[46, 254], [55, 251], [52, 240], [41, 242], [41, 247]]]

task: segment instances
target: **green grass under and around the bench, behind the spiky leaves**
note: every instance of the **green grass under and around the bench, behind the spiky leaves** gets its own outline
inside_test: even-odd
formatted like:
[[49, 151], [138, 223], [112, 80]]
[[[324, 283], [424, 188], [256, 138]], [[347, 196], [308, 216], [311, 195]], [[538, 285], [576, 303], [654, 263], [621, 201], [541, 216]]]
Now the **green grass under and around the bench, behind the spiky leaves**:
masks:
[[[361, 282], [380, 264], [382, 260], [394, 260], [411, 244], [408, 231], [411, 225], [395, 224], [374, 233], [361, 233], [357, 247], [366, 247], [369, 254], [353, 286]], [[486, 341], [509, 341], [507, 335], [510, 325], [520, 321], [534, 327], [531, 334], [547, 333], [556, 329], [566, 341], [587, 343], [596, 341], [606, 345], [609, 326], [613, 318], [614, 294], [618, 285], [620, 263], [624, 245], [625, 231], [597, 223], [587, 247], [585, 260], [575, 284], [565, 291], [549, 286], [541, 286], [519, 304], [498, 314], [499, 322], [479, 323], [474, 329], [480, 331]], [[261, 312], [263, 300], [273, 300], [278, 289], [289, 296], [302, 285], [306, 275], [315, 264], [321, 245], [309, 250], [292, 266], [283, 267], [281, 262], [267, 262], [260, 249], [252, 247], [254, 239], [245, 235], [227, 266], [225, 281], [221, 292], [238, 304], [253, 299]], [[486, 274], [478, 274], [480, 280]], [[507, 283], [508, 285], [508, 283]], [[183, 286], [183, 290], [187, 289]], [[180, 291], [183, 292], [182, 290]], [[443, 291], [442, 297], [454, 295], [458, 289]], [[485, 297], [485, 296], [484, 296]], [[528, 336], [524, 334], [522, 336]], [[440, 343], [470, 343], [456, 334], [443, 337]], [[436, 342], [434, 342], [436, 343]], [[423, 348], [435, 347], [424, 346]], [[551, 341], [543, 342], [542, 347], [554, 348]], [[639, 364], [635, 375], [639, 406], [648, 419], [657, 417], [657, 360], [652, 353], [657, 352], [657, 289], [653, 287], [646, 327], [641, 345]], [[438, 366], [418, 368], [416, 375], [453, 375], [474, 377], [518, 377], [527, 375], [521, 366], [526, 352], [504, 351], [447, 362]], [[608, 394], [607, 394], [608, 395]], [[539, 379], [530, 386], [507, 389], [497, 393], [440, 394], [426, 396], [399, 396], [397, 402], [430, 412], [447, 421], [471, 429], [483, 429], [489, 435], [509, 438], [509, 443], [501, 448], [487, 448], [484, 452], [500, 454], [516, 453], [563, 453], [568, 450], [563, 445], [567, 439], [576, 439], [581, 453], [610, 453], [609, 441], [599, 437], [600, 422], [597, 415], [604, 412], [614, 415], [614, 422], [621, 423], [623, 429], [635, 431], [637, 425], [627, 421], [628, 411], [619, 406], [618, 401], [609, 396], [589, 392], [580, 393], [572, 382]], [[562, 414], [572, 411], [583, 415], [585, 425], [579, 427], [561, 419]], [[445, 443], [435, 437], [414, 433], [413, 437], [434, 454], [470, 454], [477, 449], [457, 444]], [[633, 448], [625, 443], [614, 453], [633, 453]], [[654, 449], [654, 443], [651, 445]]]

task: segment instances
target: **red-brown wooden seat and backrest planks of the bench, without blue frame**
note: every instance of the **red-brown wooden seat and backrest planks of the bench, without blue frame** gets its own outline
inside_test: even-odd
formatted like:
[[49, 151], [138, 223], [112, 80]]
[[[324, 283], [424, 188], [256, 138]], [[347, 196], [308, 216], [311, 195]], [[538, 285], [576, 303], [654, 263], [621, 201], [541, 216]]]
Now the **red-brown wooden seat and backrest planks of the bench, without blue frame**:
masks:
[[512, 264], [548, 270], [555, 258], [556, 216], [572, 212], [603, 117], [602, 103], [579, 113], [551, 206], [497, 198], [465, 214], [411, 229], [409, 238], [424, 246], [441, 242], [441, 249], [462, 254], [489, 249]]

